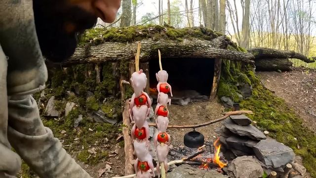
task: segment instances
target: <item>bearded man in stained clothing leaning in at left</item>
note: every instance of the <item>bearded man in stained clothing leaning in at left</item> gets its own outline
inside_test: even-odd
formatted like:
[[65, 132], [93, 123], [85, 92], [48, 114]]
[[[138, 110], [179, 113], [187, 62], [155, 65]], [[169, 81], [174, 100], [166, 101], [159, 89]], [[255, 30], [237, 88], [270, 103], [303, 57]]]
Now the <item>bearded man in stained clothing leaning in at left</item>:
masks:
[[0, 0], [0, 178], [15, 178], [21, 158], [40, 178], [90, 178], [43, 126], [31, 94], [45, 88], [44, 57], [69, 58], [76, 36], [97, 17], [113, 22], [119, 6], [120, 0]]

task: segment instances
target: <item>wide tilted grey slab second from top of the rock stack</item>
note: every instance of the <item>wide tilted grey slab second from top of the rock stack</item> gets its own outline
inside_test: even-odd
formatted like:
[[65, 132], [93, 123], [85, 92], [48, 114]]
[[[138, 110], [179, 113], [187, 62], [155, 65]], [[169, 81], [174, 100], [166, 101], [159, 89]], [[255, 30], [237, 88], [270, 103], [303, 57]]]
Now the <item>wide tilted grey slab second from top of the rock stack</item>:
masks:
[[235, 124], [231, 119], [224, 120], [222, 124], [232, 133], [238, 134], [240, 136], [247, 136], [255, 140], [262, 140], [267, 138], [261, 131], [259, 131], [252, 125], [239, 126]]

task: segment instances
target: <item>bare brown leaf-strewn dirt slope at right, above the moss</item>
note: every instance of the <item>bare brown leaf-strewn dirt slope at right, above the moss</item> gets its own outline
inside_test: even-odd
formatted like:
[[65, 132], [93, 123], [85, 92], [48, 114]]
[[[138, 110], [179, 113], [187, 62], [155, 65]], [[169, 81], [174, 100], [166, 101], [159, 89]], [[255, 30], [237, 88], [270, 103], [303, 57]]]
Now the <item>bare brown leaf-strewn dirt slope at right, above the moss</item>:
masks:
[[257, 72], [266, 88], [283, 98], [316, 132], [316, 70], [296, 68], [292, 72]]

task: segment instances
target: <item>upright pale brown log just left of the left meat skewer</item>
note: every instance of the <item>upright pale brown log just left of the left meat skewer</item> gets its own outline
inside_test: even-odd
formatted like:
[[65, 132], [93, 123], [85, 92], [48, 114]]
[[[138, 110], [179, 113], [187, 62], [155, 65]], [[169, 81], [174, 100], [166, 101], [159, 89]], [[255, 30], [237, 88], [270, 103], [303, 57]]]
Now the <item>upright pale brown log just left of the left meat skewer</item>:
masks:
[[125, 101], [124, 111], [123, 111], [123, 137], [124, 137], [124, 152], [125, 152], [125, 175], [135, 174], [134, 166], [131, 164], [132, 160], [134, 160], [133, 152], [133, 142], [132, 137], [129, 134], [131, 130], [131, 124], [129, 119], [129, 101]]

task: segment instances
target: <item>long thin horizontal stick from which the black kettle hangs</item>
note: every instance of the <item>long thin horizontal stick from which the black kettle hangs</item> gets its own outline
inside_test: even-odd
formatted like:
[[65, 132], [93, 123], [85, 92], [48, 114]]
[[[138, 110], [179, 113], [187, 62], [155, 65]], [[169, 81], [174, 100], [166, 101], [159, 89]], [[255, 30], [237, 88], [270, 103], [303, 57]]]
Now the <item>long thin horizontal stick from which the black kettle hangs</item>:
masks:
[[[223, 117], [221, 117], [219, 119], [216, 119], [214, 121], [207, 122], [207, 123], [198, 124], [198, 125], [188, 125], [188, 126], [168, 126], [167, 128], [168, 129], [199, 128], [199, 127], [203, 127], [203, 126], [207, 126], [207, 125], [210, 125], [210, 124], [214, 124], [214, 123], [223, 121], [226, 118], [228, 118], [229, 116], [241, 115], [241, 114], [253, 114], [253, 113], [252, 113], [252, 111], [244, 111], [244, 110], [241, 110], [241, 111], [230, 111], [230, 112], [227, 112]], [[150, 127], [157, 127], [156, 124], [149, 124], [149, 126]]]

